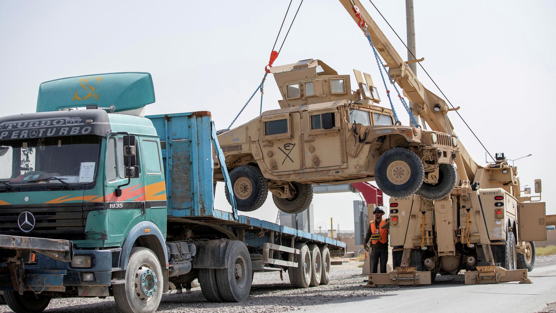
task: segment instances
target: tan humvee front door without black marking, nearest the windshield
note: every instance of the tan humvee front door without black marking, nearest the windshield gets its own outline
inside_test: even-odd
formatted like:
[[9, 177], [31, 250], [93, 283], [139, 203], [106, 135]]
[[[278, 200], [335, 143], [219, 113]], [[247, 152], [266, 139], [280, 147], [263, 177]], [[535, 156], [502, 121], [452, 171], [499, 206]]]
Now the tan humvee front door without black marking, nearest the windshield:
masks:
[[304, 112], [305, 168], [337, 167], [344, 164], [341, 142], [342, 119], [337, 106]]

